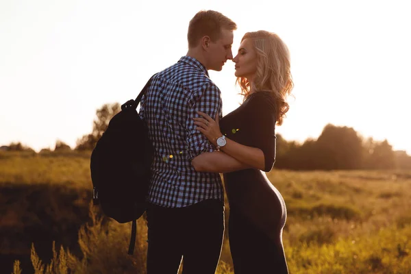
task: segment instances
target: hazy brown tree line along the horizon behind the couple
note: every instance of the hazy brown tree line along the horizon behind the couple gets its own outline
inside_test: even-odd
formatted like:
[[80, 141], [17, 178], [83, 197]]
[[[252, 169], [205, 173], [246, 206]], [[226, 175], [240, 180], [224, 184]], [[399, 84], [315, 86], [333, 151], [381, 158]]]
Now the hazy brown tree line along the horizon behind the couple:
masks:
[[[77, 140], [75, 150], [91, 151], [107, 129], [112, 117], [120, 110], [119, 103], [108, 103], [99, 108], [96, 111], [92, 131]], [[277, 169], [411, 169], [411, 156], [406, 151], [394, 151], [387, 140], [363, 138], [352, 127], [326, 125], [319, 138], [309, 138], [302, 144], [285, 140], [277, 134], [276, 142], [275, 168]], [[32, 149], [18, 142], [10, 144], [8, 150]], [[54, 151], [68, 150], [71, 150], [71, 147], [61, 140], [55, 143]]]

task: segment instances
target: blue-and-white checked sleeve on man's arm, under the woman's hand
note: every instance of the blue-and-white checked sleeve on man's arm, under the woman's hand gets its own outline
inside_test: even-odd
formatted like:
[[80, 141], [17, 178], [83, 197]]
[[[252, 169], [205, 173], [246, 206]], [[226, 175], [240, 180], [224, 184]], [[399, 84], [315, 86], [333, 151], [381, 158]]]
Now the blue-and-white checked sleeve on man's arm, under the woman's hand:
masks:
[[205, 84], [188, 99], [188, 116], [186, 121], [186, 147], [189, 160], [203, 152], [212, 152], [214, 145], [208, 141], [206, 136], [196, 129], [192, 118], [200, 117], [197, 111], [204, 112], [214, 119], [216, 113], [221, 117], [222, 103], [221, 91], [212, 83]]

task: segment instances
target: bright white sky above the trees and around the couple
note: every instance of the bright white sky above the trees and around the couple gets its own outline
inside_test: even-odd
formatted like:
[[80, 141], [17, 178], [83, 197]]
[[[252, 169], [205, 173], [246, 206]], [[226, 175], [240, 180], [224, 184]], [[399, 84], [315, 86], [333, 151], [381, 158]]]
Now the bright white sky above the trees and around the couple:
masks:
[[[411, 16], [397, 0], [1, 0], [0, 145], [74, 147], [97, 108], [134, 99], [186, 54], [188, 22], [203, 9], [237, 23], [235, 52], [259, 29], [288, 45], [295, 99], [277, 127], [286, 140], [317, 138], [332, 123], [411, 155]], [[234, 110], [234, 63], [210, 77], [223, 113]]]

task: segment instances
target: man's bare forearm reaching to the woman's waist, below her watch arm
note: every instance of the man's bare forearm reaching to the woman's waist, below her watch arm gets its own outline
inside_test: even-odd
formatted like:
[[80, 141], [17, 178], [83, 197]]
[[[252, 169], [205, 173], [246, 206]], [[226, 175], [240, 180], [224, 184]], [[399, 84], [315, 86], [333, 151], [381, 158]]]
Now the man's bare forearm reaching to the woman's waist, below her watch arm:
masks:
[[201, 153], [191, 160], [191, 164], [196, 171], [215, 173], [233, 172], [252, 167], [221, 151]]

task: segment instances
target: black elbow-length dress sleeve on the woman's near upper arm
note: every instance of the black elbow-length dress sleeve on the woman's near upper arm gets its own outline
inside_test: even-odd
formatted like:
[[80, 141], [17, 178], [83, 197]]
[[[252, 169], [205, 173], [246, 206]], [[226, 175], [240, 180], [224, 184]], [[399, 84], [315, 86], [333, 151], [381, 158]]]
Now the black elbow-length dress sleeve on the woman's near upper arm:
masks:
[[264, 153], [264, 171], [269, 172], [275, 163], [275, 104], [269, 95], [253, 95], [248, 103], [253, 147]]

